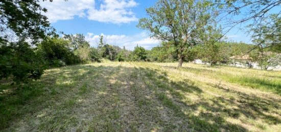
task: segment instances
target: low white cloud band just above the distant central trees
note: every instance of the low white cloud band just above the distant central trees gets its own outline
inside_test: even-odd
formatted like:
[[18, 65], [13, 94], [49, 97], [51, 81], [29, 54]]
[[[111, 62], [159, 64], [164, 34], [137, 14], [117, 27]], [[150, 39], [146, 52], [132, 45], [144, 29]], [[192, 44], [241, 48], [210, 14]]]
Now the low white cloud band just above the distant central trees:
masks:
[[[126, 49], [133, 50], [136, 45], [142, 46], [146, 49], [151, 49], [152, 47], [158, 45], [161, 41], [150, 38], [145, 33], [140, 33], [133, 36], [127, 35], [104, 35], [106, 43], [123, 47]], [[100, 35], [95, 35], [93, 33], [87, 33], [86, 40], [90, 42], [91, 46], [97, 46], [99, 42]]]

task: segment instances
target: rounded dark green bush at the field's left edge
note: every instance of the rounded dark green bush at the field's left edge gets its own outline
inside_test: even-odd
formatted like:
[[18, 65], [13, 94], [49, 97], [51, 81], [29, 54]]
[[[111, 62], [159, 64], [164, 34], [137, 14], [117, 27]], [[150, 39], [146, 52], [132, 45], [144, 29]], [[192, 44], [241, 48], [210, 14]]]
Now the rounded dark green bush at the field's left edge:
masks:
[[49, 61], [51, 66], [57, 66], [54, 60], [59, 60], [66, 65], [80, 63], [80, 58], [74, 54], [74, 51], [69, 48], [69, 41], [63, 38], [53, 37], [47, 38], [39, 45], [39, 52], [42, 53], [44, 59]]

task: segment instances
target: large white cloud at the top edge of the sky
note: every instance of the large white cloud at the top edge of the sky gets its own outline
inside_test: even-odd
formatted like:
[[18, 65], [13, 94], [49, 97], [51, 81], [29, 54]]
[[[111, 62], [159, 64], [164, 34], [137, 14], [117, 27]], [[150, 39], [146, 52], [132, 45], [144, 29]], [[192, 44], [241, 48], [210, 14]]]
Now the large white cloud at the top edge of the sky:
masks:
[[137, 21], [131, 8], [136, 7], [134, 0], [104, 0], [95, 8], [95, 0], [54, 0], [41, 2], [40, 5], [48, 9], [45, 15], [51, 22], [73, 19], [74, 16], [86, 17], [89, 20], [111, 23], [129, 23]]

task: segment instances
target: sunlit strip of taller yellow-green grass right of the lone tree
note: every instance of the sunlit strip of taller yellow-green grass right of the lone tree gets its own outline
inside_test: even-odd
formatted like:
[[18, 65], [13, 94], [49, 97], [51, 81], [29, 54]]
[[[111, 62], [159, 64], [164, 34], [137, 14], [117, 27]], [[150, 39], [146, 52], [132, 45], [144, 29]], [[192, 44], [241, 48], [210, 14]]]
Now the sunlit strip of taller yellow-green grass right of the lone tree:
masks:
[[[196, 68], [195, 68], [196, 67]], [[281, 95], [281, 72], [188, 64], [181, 70]]]

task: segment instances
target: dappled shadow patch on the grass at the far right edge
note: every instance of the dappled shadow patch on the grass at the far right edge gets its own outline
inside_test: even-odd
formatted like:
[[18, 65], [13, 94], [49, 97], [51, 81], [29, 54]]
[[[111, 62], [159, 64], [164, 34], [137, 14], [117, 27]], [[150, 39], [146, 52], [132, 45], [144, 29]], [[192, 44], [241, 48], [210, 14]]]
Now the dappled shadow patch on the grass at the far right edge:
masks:
[[[268, 124], [279, 124], [281, 123], [281, 120], [278, 117], [274, 117], [271, 115], [264, 114], [264, 112], [271, 113], [272, 111], [270, 109], [274, 108], [276, 110], [280, 109], [280, 100], [278, 99], [265, 99], [261, 97], [257, 97], [256, 95], [248, 95], [239, 91], [235, 90], [229, 90], [225, 89], [221, 86], [213, 86], [218, 89], [221, 89], [225, 92], [233, 93], [235, 95], [238, 95], [237, 99], [225, 99], [225, 98], [217, 98], [214, 101], [218, 103], [229, 103], [236, 105], [239, 109], [234, 109], [238, 114], [243, 114], [247, 118], [251, 118], [254, 120], [261, 119], [264, 122], [267, 122]], [[231, 112], [231, 111], [230, 111]], [[274, 113], [273, 114], [278, 114]]]

